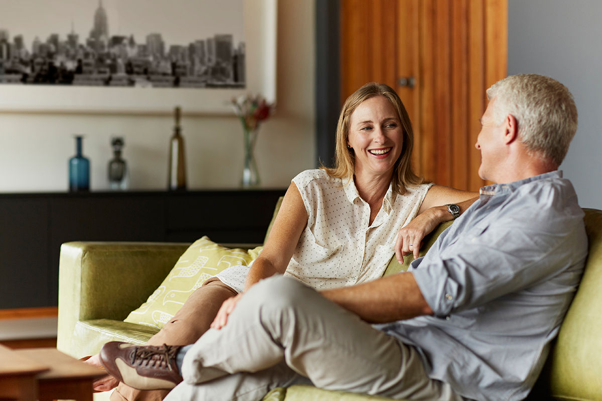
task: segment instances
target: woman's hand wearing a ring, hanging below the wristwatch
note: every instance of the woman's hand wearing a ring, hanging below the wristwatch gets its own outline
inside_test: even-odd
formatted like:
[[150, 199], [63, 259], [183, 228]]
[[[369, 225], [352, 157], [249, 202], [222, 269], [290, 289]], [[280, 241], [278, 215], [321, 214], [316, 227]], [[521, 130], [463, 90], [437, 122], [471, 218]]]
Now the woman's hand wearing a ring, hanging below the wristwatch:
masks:
[[403, 257], [408, 254], [414, 254], [414, 259], [418, 257], [422, 240], [441, 222], [435, 209], [426, 210], [399, 230], [395, 242], [395, 256], [399, 263], [403, 263]]

